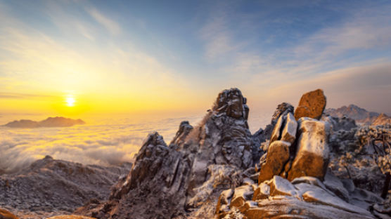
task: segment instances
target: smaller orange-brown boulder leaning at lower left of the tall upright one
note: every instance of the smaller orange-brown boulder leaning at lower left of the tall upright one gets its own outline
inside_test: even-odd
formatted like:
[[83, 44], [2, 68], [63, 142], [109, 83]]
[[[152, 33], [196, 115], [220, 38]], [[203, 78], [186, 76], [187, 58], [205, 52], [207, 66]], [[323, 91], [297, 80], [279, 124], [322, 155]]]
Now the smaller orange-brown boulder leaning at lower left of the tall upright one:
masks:
[[259, 171], [258, 183], [270, 180], [274, 175], [279, 175], [283, 171], [286, 161], [289, 159], [290, 142], [276, 140], [269, 146], [266, 163]]

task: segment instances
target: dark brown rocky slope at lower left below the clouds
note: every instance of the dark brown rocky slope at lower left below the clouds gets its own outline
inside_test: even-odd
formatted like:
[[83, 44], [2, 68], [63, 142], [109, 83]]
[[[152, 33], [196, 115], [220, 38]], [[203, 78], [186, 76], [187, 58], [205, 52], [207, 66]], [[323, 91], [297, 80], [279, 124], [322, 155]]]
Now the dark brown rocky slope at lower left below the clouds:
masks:
[[18, 173], [0, 175], [0, 206], [22, 218], [69, 214], [90, 199], [108, 198], [131, 165], [84, 166], [46, 156]]

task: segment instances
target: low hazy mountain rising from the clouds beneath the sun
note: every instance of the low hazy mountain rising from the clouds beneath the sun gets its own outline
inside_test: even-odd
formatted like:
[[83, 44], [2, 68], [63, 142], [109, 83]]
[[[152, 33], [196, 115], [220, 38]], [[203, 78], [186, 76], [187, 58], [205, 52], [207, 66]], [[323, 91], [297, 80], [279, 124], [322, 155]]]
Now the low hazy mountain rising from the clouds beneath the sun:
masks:
[[10, 128], [39, 128], [39, 127], [69, 127], [74, 125], [82, 125], [85, 122], [82, 119], [69, 119], [65, 117], [49, 117], [42, 121], [32, 121], [29, 119], [21, 119], [19, 121], [11, 121], [4, 126]]

